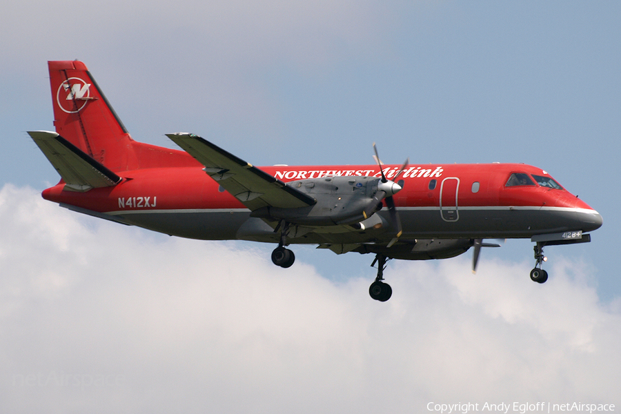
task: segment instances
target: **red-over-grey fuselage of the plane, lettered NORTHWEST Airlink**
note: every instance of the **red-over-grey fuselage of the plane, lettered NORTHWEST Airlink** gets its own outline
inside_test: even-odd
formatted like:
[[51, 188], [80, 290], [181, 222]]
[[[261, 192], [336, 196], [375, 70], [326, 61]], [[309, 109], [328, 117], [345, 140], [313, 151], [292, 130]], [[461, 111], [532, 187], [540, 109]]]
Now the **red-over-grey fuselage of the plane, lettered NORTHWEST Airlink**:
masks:
[[[174, 151], [174, 150], [170, 150]], [[179, 157], [184, 157], [179, 152]], [[43, 197], [115, 217], [170, 235], [195, 239], [237, 239], [250, 211], [187, 156], [187, 166], [144, 168], [121, 172], [121, 184], [88, 193], [63, 190], [63, 184], [43, 191]], [[391, 179], [399, 166], [383, 166]], [[333, 176], [380, 177], [378, 166], [271, 166], [262, 170], [284, 182]], [[600, 227], [602, 217], [564, 188], [507, 186], [514, 173], [549, 177], [524, 164], [440, 164], [408, 166], [399, 177], [403, 189], [395, 205], [406, 238], [532, 237], [545, 233]], [[551, 177], [550, 177], [551, 178]], [[381, 210], [377, 214], [385, 214]], [[226, 221], [223, 221], [226, 220]], [[259, 232], [261, 233], [261, 232]], [[366, 232], [368, 239], [377, 234]], [[369, 234], [370, 233], [370, 234]], [[360, 242], [358, 233], [336, 233], [291, 240], [292, 243]], [[273, 241], [266, 237], [266, 242]]]

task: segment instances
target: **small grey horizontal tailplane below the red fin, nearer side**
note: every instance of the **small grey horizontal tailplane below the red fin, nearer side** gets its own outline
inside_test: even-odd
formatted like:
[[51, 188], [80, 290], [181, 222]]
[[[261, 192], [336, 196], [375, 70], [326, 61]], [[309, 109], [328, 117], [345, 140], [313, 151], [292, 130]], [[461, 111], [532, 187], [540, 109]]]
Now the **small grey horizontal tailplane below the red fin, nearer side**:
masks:
[[121, 181], [121, 177], [56, 132], [30, 131], [28, 135], [65, 181], [66, 190], [83, 192], [115, 186]]

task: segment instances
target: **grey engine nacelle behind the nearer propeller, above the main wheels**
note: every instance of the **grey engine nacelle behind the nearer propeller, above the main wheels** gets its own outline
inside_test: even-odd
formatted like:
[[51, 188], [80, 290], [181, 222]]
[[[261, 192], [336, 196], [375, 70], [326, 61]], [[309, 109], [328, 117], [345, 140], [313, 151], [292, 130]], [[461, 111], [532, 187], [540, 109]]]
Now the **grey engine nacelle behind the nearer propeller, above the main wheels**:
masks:
[[313, 206], [300, 208], [263, 207], [254, 210], [250, 216], [284, 219], [289, 223], [304, 226], [355, 224], [382, 208], [385, 193], [381, 191], [382, 197], [375, 197], [378, 193], [378, 185], [385, 184], [380, 181], [380, 178], [366, 176], [290, 181], [287, 183], [288, 186], [310, 195], [317, 202]]

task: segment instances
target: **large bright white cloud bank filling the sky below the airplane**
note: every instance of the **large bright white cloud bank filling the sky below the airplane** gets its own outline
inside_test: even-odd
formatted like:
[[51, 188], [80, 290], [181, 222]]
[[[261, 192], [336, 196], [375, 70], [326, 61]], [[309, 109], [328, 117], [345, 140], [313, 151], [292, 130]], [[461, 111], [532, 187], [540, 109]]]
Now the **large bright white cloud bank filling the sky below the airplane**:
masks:
[[[397, 412], [620, 404], [621, 316], [589, 266], [391, 262], [393, 297], [262, 246], [163, 237], [0, 190], [0, 409]], [[328, 254], [328, 252], [326, 252]]]

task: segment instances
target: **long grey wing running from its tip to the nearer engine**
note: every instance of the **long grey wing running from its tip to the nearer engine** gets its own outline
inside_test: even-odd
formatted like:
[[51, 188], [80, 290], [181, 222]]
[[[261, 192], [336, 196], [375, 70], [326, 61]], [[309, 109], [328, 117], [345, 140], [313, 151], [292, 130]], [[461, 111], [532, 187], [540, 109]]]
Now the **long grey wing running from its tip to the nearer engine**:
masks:
[[203, 170], [250, 210], [261, 207], [312, 206], [315, 199], [287, 186], [267, 172], [248, 164], [206, 139], [186, 132], [166, 134], [201, 164]]

